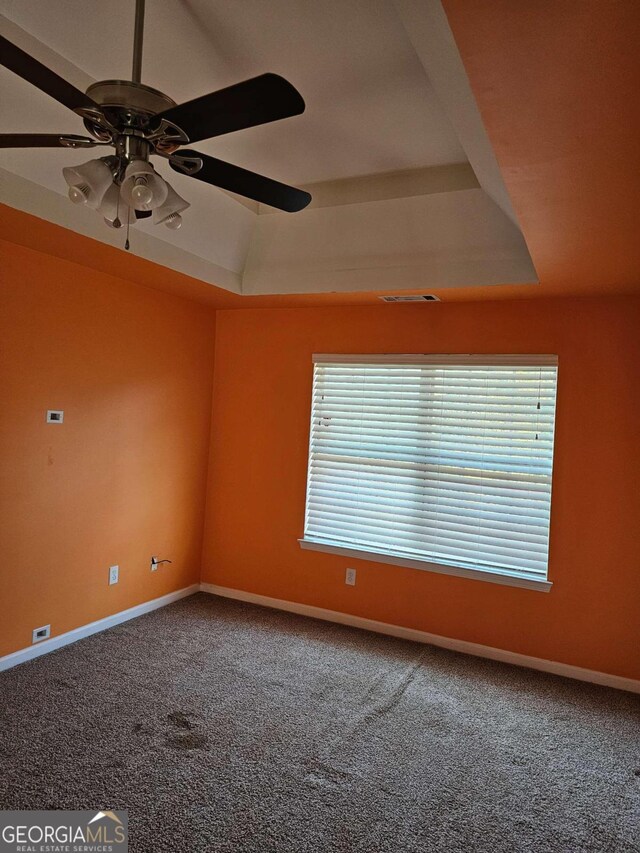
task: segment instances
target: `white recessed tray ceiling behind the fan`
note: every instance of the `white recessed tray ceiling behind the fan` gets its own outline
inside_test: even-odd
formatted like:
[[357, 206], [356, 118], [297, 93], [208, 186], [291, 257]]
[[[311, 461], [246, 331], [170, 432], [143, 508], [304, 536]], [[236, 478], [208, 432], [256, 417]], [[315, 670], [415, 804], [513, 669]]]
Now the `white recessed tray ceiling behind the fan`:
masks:
[[[133, 0], [0, 0], [0, 28], [85, 89], [95, 80], [130, 77], [133, 12]], [[473, 280], [474, 266], [469, 261], [459, 272], [459, 249], [478, 204], [484, 204], [480, 195], [487, 197], [484, 218], [496, 239], [487, 238], [478, 283], [505, 282], [505, 251], [513, 259], [512, 281], [535, 280], [440, 0], [147, 0], [143, 83], [183, 102], [265, 71], [296, 86], [305, 113], [196, 148], [286, 183], [316, 184], [311, 190], [323, 191], [323, 212], [278, 213], [277, 222], [267, 224], [258, 214], [269, 211], [241, 205], [156, 162], [192, 206], [178, 232], [136, 226], [134, 251], [238, 292], [362, 290], [382, 241], [395, 258], [382, 286], [419, 286], [407, 283], [408, 264], [425, 288], [462, 286]], [[3, 132], [84, 132], [77, 116], [1, 68], [0, 86]], [[62, 167], [101, 153], [0, 151], [2, 200], [121, 247], [119, 232], [66, 199]], [[451, 197], [452, 239], [444, 245], [457, 248], [443, 250], [442, 231], [431, 232], [432, 214], [426, 213], [437, 207], [412, 202], [415, 190], [398, 198], [397, 187], [410, 184], [413, 173], [404, 172], [396, 190], [385, 193], [389, 173], [419, 170], [418, 185], [431, 186], [429, 170], [444, 174], [442, 167], [451, 164], [465, 164], [473, 180], [452, 179], [448, 187], [429, 190]], [[344, 182], [353, 178], [359, 181], [348, 184], [347, 195], [362, 204], [344, 201]], [[391, 197], [397, 204], [385, 204]], [[397, 222], [387, 221], [391, 209], [399, 211]], [[325, 252], [327, 234], [338, 222], [345, 245], [360, 246], [357, 261], [351, 255], [348, 260], [357, 269], [346, 275], [345, 258]], [[365, 222], [376, 223], [370, 236], [360, 233]], [[307, 248], [287, 255], [301, 229]], [[407, 233], [415, 235], [409, 244]], [[279, 267], [270, 263], [262, 276], [256, 258], [264, 255], [258, 246], [265, 239], [281, 241], [271, 253], [281, 261]], [[427, 263], [433, 257], [436, 266]], [[313, 275], [305, 276], [307, 263]]]

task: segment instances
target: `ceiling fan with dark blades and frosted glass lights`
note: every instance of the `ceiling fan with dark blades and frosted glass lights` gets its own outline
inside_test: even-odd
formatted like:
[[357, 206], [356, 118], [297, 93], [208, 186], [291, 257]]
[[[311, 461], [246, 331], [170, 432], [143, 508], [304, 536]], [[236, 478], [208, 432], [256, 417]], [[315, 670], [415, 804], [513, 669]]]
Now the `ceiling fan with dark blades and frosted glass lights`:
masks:
[[[176, 229], [189, 203], [155, 171], [150, 155], [176, 172], [293, 213], [311, 201], [304, 190], [233, 166], [190, 148], [193, 142], [266, 124], [304, 111], [299, 92], [277, 74], [261, 74], [226, 89], [176, 104], [140, 82], [145, 0], [136, 0], [131, 80], [103, 80], [81, 92], [17, 45], [0, 36], [0, 61], [84, 120], [88, 136], [73, 133], [0, 134], [0, 148], [94, 148], [113, 154], [64, 168], [69, 198], [97, 210], [107, 225], [153, 217]], [[126, 248], [128, 248], [128, 240]]]

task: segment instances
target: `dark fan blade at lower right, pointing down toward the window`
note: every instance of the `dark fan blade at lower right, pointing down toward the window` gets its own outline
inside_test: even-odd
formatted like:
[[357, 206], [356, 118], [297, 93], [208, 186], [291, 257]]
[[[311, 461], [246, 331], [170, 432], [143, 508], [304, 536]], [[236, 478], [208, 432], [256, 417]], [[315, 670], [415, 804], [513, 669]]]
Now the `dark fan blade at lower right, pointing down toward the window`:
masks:
[[[180, 168], [180, 160], [183, 157], [201, 160], [202, 168], [197, 172], [194, 172], [189, 166], [186, 169]], [[288, 213], [302, 210], [311, 201], [311, 196], [304, 190], [289, 187], [287, 184], [281, 184], [280, 181], [265, 178], [264, 175], [249, 172], [247, 169], [241, 169], [240, 166], [233, 166], [231, 163], [225, 163], [224, 160], [217, 160], [215, 157], [208, 157], [198, 151], [182, 149], [169, 158], [169, 165], [176, 172], [182, 172], [192, 178], [197, 178], [199, 181], [213, 184], [214, 187], [221, 187], [223, 190], [238, 193], [245, 198], [277, 207], [279, 210], [286, 210]]]

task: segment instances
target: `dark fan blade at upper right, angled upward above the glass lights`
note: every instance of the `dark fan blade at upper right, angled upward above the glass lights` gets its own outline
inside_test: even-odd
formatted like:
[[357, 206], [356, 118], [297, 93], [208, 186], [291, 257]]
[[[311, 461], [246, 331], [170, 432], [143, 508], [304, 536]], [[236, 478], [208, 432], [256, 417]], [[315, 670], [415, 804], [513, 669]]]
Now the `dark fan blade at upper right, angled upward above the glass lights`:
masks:
[[302, 96], [278, 74], [261, 74], [165, 110], [158, 118], [176, 124], [199, 142], [304, 112]]

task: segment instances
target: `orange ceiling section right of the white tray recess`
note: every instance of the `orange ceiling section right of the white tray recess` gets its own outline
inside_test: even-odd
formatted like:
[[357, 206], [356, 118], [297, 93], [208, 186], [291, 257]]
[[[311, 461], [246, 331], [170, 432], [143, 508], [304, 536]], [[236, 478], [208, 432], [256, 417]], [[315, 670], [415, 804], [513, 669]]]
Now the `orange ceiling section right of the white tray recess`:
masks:
[[640, 292], [638, 0], [444, 0], [544, 292]]

